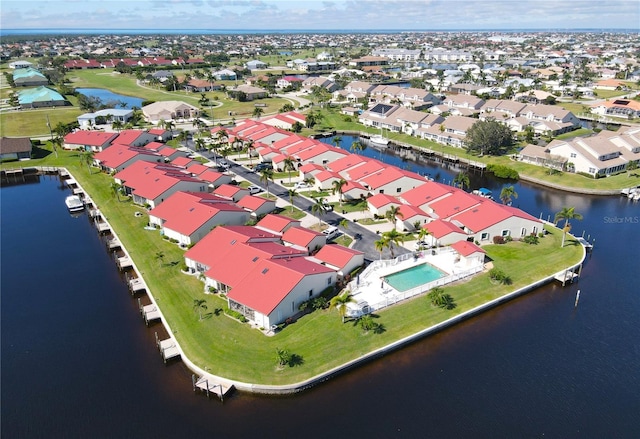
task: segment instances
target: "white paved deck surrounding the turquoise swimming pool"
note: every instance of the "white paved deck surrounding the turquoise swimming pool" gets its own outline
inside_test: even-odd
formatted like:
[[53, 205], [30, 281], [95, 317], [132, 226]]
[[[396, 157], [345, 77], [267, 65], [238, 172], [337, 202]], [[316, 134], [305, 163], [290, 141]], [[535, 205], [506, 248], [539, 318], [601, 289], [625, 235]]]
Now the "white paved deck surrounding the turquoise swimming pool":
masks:
[[[385, 276], [424, 263], [433, 265], [447, 275], [406, 291], [398, 291], [383, 280]], [[455, 250], [448, 247], [435, 249], [434, 251], [418, 251], [414, 254], [403, 255], [390, 260], [375, 261], [367, 267], [359, 278], [349, 284], [349, 289], [355, 301], [349, 306], [350, 314], [358, 315], [360, 313], [358, 303], [366, 302], [371, 311], [379, 310], [410, 297], [423, 294], [434, 286], [455, 282], [483, 269], [484, 264], [468, 262], [460, 258]]]

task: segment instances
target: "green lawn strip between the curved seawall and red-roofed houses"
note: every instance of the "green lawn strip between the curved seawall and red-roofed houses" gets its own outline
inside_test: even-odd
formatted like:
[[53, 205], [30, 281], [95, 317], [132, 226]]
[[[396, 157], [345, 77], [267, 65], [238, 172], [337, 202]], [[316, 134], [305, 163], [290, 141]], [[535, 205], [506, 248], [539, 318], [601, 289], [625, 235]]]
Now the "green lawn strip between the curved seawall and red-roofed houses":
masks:
[[[211, 373], [244, 382], [277, 385], [307, 379], [557, 272], [563, 266], [579, 261], [582, 255], [581, 247], [571, 239], [561, 249], [561, 232], [555, 228], [537, 246], [516, 242], [488, 245], [485, 247], [488, 256], [495, 266], [511, 276], [512, 286], [494, 286], [482, 274], [445, 287], [456, 301], [457, 307], [453, 310], [434, 308], [426, 297], [387, 308], [376, 319], [384, 325], [385, 331], [381, 334], [365, 334], [353, 322], [342, 324], [335, 311], [324, 310], [308, 314], [275, 336], [266, 337], [219, 312], [225, 301], [218, 296], [205, 295], [200, 281], [180, 272], [183, 251], [161, 239], [159, 232], [143, 229], [146, 217], [134, 215], [141, 208], [115, 198], [109, 189], [111, 177], [95, 170], [90, 173], [76, 152], [63, 151], [59, 155], [55, 158], [48, 154], [44, 159], [30, 163], [14, 162], [2, 166], [66, 166], [119, 234], [188, 357]], [[159, 252], [164, 254], [162, 259], [157, 258]], [[206, 300], [209, 314], [203, 321], [198, 320], [193, 310], [194, 299]], [[276, 348], [301, 356], [302, 364], [277, 369]]]

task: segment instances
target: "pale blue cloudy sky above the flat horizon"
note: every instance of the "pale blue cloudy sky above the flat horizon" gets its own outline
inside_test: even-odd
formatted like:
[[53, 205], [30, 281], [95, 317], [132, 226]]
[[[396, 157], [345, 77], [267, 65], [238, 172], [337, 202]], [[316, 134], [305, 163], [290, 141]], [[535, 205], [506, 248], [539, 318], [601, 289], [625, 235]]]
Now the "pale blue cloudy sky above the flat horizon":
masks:
[[0, 0], [2, 29], [639, 29], [639, 0]]

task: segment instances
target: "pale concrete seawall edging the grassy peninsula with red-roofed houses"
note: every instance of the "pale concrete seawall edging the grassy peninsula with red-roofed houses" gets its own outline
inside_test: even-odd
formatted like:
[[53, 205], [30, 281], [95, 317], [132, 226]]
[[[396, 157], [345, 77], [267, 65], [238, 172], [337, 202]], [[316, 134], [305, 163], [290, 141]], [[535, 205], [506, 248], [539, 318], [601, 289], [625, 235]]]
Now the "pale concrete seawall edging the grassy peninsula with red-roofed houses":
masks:
[[[53, 168], [46, 168], [47, 172], [52, 171]], [[73, 175], [66, 169], [66, 168], [57, 168], [58, 172], [60, 170], [64, 170], [64, 172], [66, 172], [69, 176], [71, 176], [71, 178], [74, 178]], [[75, 179], [75, 178], [74, 178]], [[77, 180], [76, 180], [77, 181]], [[77, 183], [79, 188], [85, 193], [87, 194], [88, 197], [90, 197], [91, 195], [84, 189], [82, 188], [82, 186], [80, 185], [80, 183]], [[91, 202], [94, 204], [95, 208], [99, 211], [99, 206], [97, 206], [95, 204], [95, 202], [89, 198], [91, 200]], [[108, 222], [107, 218], [104, 218], [103, 216], [103, 221], [108, 225], [111, 233], [113, 234], [113, 236], [118, 239], [121, 243], [122, 241], [120, 240], [117, 231], [112, 227], [112, 225]], [[478, 314], [481, 314], [485, 311], [488, 311], [492, 308], [495, 308], [503, 303], [506, 303], [510, 300], [513, 300], [527, 292], [530, 292], [542, 285], [545, 285], [549, 282], [552, 282], [554, 280], [554, 277], [557, 276], [559, 273], [563, 273], [566, 271], [573, 271], [576, 268], [580, 267], [585, 258], [586, 258], [586, 250], [583, 247], [583, 253], [582, 253], [582, 257], [580, 259], [580, 261], [576, 264], [572, 264], [562, 270], [560, 270], [559, 272], [552, 274], [550, 276], [547, 276], [543, 279], [540, 279], [538, 281], [535, 281], [529, 285], [526, 285], [524, 287], [521, 287], [517, 290], [512, 291], [511, 293], [507, 293], [501, 297], [498, 297], [496, 299], [493, 299], [489, 302], [486, 302], [480, 306], [477, 306], [473, 309], [470, 309], [468, 311], [465, 311], [457, 316], [451, 317], [443, 322], [440, 322], [436, 325], [430, 326], [428, 328], [424, 328], [414, 334], [411, 334], [409, 336], [406, 336], [404, 338], [401, 338], [395, 342], [389, 343], [388, 345], [385, 345], [383, 347], [380, 347], [378, 349], [375, 349], [367, 354], [364, 354], [360, 357], [357, 357], [351, 361], [348, 361], [342, 365], [336, 366], [330, 370], [327, 370], [325, 372], [322, 372], [320, 374], [317, 374], [307, 380], [304, 381], [300, 381], [298, 383], [292, 383], [292, 384], [285, 384], [285, 385], [268, 385], [268, 384], [256, 384], [256, 383], [247, 383], [247, 382], [242, 382], [242, 381], [237, 381], [237, 380], [231, 380], [222, 376], [218, 376], [218, 375], [214, 375], [210, 372], [208, 372], [205, 367], [205, 369], [201, 368], [200, 366], [196, 365], [195, 363], [193, 363], [193, 361], [191, 361], [189, 359], [189, 357], [187, 355], [185, 355], [185, 352], [183, 351], [182, 347], [180, 346], [180, 343], [174, 338], [172, 337], [171, 334], [174, 334], [173, 329], [171, 328], [171, 325], [169, 324], [169, 322], [167, 321], [167, 319], [165, 318], [164, 314], [162, 313], [161, 310], [161, 306], [158, 305], [158, 301], [156, 300], [155, 296], [153, 295], [153, 292], [151, 291], [151, 289], [148, 288], [148, 285], [144, 279], [144, 276], [142, 275], [142, 273], [140, 272], [140, 270], [137, 268], [135, 261], [133, 260], [133, 258], [130, 257], [129, 251], [125, 248], [124, 244], [121, 245], [122, 251], [125, 253], [125, 255], [131, 260], [131, 264], [133, 266], [133, 269], [135, 270], [136, 274], [139, 276], [139, 278], [142, 280], [142, 282], [145, 285], [145, 289], [147, 291], [147, 296], [149, 297], [149, 299], [151, 300], [152, 304], [154, 304], [159, 312], [159, 319], [162, 323], [162, 325], [164, 326], [165, 330], [167, 331], [167, 334], [169, 334], [169, 336], [173, 339], [173, 341], [175, 342], [176, 348], [178, 349], [179, 353], [180, 353], [180, 357], [182, 359], [182, 361], [184, 362], [184, 364], [194, 373], [197, 373], [199, 376], [204, 377], [208, 380], [210, 380], [211, 382], [214, 382], [216, 384], [219, 384], [221, 386], [226, 387], [227, 389], [230, 388], [235, 388], [239, 391], [243, 391], [243, 392], [249, 392], [249, 393], [257, 393], [257, 394], [279, 394], [279, 395], [287, 395], [287, 394], [294, 394], [294, 393], [298, 393], [307, 389], [310, 389], [312, 387], [315, 387], [319, 384], [321, 384], [322, 382], [325, 382], [329, 379], [331, 379], [332, 377], [335, 377], [337, 375], [340, 375], [342, 373], [345, 373], [349, 370], [352, 370], [360, 365], [363, 365], [367, 362], [370, 362], [376, 358], [388, 355], [389, 353], [396, 351], [408, 344], [414, 343], [422, 338], [425, 338], [427, 336], [433, 335], [437, 332], [440, 332], [446, 328], [452, 327], [457, 323], [463, 322], [465, 320], [468, 320]]]

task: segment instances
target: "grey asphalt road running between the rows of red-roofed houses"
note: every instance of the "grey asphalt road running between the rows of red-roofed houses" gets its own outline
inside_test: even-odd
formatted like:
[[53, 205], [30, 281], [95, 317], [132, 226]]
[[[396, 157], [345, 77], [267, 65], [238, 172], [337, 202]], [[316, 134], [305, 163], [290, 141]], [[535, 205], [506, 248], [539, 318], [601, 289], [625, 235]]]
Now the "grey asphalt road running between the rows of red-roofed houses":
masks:
[[[185, 143], [186, 145], [184, 146], [186, 146], [191, 150], [194, 150], [193, 141], [189, 140]], [[204, 152], [198, 151], [197, 154], [203, 156], [209, 161], [215, 162], [214, 153], [209, 153], [206, 151]], [[251, 184], [260, 186], [263, 190], [266, 191], [266, 185], [260, 180], [259, 174], [249, 170], [248, 168], [245, 168], [242, 165], [239, 165], [238, 163], [234, 162], [233, 160], [230, 160], [229, 158], [225, 158], [225, 160], [229, 163], [229, 171], [244, 178], [245, 180], [249, 181]], [[276, 197], [282, 198], [284, 200], [289, 200], [289, 193], [287, 192], [287, 190], [288, 190], [287, 188], [277, 184], [276, 182], [269, 183], [269, 193], [275, 195]], [[314, 202], [312, 200], [300, 195], [297, 195], [293, 198], [293, 205], [298, 209], [304, 212], [307, 212], [309, 215], [313, 215], [311, 212], [311, 206], [313, 204]], [[349, 221], [348, 227], [345, 228], [340, 225], [340, 222], [344, 219], [344, 217], [340, 216], [335, 212], [325, 212], [319, 219], [326, 222], [327, 224], [338, 227], [338, 229], [340, 229], [342, 233], [345, 233], [354, 238], [357, 237], [357, 239], [355, 239], [355, 243], [353, 244], [352, 248], [363, 252], [364, 257], [367, 261], [371, 262], [380, 258], [380, 252], [376, 250], [375, 244], [374, 244], [377, 240], [380, 239], [380, 235], [378, 235], [377, 233], [372, 232], [366, 227], [363, 227], [360, 224], [353, 221]], [[398, 247], [394, 245], [395, 256], [398, 256], [404, 253], [409, 253], [409, 250], [407, 250], [402, 246]], [[382, 252], [382, 257], [391, 258], [391, 252], [389, 251], [389, 249], [385, 249]]]

